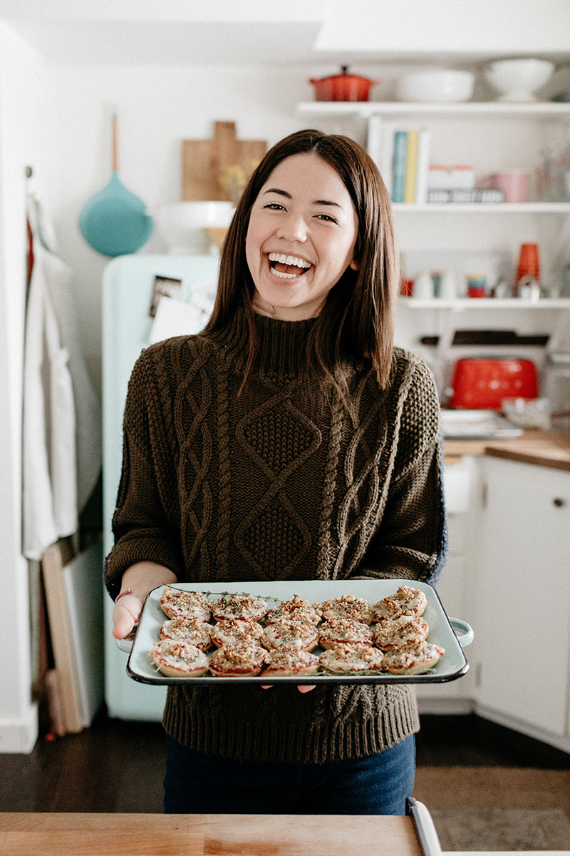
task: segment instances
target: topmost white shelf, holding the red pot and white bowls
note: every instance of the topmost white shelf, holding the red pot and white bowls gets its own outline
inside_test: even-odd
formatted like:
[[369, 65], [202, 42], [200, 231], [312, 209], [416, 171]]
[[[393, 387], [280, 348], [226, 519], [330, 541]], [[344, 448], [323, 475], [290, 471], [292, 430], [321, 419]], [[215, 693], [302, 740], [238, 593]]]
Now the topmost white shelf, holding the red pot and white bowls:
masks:
[[303, 101], [297, 112], [320, 116], [356, 115], [368, 118], [377, 114], [406, 115], [433, 113], [448, 116], [568, 116], [570, 103], [555, 101], [464, 101], [458, 103], [420, 104], [407, 101]]

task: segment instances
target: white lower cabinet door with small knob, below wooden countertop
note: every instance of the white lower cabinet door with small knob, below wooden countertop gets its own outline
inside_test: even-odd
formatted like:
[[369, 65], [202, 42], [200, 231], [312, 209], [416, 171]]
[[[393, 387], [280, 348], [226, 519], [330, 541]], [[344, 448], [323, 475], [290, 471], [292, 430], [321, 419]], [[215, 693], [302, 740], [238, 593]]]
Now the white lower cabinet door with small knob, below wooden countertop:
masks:
[[570, 473], [491, 458], [481, 465], [477, 702], [565, 734]]

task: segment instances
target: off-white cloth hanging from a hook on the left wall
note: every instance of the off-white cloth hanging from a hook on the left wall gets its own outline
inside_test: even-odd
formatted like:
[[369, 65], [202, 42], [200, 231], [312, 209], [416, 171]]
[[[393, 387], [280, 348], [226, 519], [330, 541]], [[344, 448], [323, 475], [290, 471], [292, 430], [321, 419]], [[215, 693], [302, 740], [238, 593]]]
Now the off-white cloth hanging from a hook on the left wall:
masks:
[[23, 412], [23, 553], [41, 559], [78, 525], [75, 407], [48, 281], [68, 281], [61, 259], [33, 240], [26, 310]]

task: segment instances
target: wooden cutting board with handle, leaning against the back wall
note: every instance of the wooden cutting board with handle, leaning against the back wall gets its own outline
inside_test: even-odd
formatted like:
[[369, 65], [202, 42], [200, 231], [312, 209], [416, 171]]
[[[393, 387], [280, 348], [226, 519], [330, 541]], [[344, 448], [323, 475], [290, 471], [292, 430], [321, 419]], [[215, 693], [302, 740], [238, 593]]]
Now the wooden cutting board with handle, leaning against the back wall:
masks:
[[266, 152], [265, 140], [238, 140], [235, 122], [215, 122], [211, 140], [182, 140], [182, 201], [232, 199], [220, 175], [238, 167], [249, 178]]

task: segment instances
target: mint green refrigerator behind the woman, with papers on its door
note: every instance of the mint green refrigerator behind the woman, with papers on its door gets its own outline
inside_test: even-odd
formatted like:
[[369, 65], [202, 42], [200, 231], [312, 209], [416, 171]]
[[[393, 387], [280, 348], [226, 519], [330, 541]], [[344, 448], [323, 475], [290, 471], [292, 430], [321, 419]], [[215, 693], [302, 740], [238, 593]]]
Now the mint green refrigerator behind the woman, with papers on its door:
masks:
[[[218, 268], [219, 257], [213, 255], [134, 254], [118, 256], [103, 272], [104, 555], [113, 545], [111, 520], [119, 487], [122, 419], [132, 366], [150, 342], [203, 329], [211, 311]], [[166, 689], [132, 681], [126, 675], [127, 655], [111, 635], [113, 603], [106, 591], [103, 597], [109, 716], [159, 721]]]

